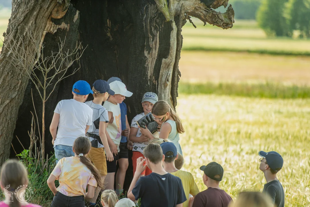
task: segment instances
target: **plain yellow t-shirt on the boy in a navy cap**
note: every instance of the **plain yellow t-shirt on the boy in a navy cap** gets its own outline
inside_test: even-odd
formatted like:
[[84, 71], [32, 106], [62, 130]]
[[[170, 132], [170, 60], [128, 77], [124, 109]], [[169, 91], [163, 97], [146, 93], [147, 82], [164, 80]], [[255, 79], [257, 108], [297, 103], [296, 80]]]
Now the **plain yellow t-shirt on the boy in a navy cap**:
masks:
[[199, 189], [196, 185], [196, 182], [194, 181], [194, 177], [192, 173], [178, 170], [176, 172], [171, 173], [172, 175], [179, 177], [182, 181], [184, 193], [186, 196], [186, 201], [183, 203], [183, 207], [188, 207], [188, 197], [189, 194], [196, 196], [199, 193]]

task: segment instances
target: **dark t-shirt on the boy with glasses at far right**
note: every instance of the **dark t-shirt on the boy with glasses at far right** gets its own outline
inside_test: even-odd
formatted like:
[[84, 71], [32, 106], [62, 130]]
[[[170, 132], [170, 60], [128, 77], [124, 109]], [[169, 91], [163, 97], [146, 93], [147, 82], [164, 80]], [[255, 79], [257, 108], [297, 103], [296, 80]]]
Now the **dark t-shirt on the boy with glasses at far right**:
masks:
[[269, 195], [273, 205], [276, 207], [284, 207], [284, 190], [278, 180], [268, 182], [264, 185], [263, 193]]

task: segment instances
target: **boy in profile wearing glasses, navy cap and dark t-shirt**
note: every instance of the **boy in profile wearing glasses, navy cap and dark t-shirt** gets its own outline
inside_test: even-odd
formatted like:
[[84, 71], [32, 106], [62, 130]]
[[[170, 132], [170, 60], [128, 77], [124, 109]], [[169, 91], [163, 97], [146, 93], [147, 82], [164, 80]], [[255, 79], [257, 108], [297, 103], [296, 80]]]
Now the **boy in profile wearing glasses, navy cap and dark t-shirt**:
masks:
[[262, 157], [259, 160], [259, 169], [263, 171], [266, 179], [263, 193], [271, 197], [274, 206], [284, 207], [284, 190], [280, 181], [277, 179], [277, 172], [279, 172], [283, 166], [283, 158], [275, 151], [259, 151], [258, 154]]

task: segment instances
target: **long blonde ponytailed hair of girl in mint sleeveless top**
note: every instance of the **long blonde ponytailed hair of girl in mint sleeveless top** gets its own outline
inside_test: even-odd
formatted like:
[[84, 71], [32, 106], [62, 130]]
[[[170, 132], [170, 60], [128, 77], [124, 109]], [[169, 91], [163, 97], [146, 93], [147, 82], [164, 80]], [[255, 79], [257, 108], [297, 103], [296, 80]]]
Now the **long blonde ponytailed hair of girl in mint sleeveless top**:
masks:
[[179, 118], [175, 110], [169, 105], [167, 101], [163, 101], [163, 100], [157, 101], [154, 104], [153, 109], [152, 109], [152, 114], [156, 116], [165, 115], [167, 112], [169, 112], [172, 119], [175, 120], [176, 130], [178, 131], [178, 133], [184, 133], [185, 130], [183, 128], [181, 119]]

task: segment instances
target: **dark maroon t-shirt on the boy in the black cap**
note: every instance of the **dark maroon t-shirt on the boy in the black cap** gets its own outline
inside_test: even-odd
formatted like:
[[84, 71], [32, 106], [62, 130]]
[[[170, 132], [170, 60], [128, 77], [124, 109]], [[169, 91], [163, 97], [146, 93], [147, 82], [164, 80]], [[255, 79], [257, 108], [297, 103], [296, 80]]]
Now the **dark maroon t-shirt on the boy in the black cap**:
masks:
[[193, 207], [227, 207], [231, 201], [232, 198], [224, 190], [208, 187], [196, 195]]

